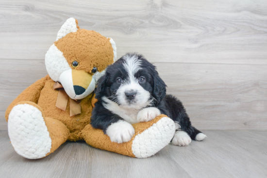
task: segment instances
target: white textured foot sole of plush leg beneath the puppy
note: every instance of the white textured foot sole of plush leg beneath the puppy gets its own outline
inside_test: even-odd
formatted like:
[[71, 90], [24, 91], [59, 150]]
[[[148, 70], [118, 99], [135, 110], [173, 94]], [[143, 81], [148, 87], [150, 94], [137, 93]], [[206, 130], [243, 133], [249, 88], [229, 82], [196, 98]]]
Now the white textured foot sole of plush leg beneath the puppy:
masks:
[[132, 151], [136, 158], [147, 158], [168, 145], [175, 133], [174, 121], [164, 117], [135, 136]]

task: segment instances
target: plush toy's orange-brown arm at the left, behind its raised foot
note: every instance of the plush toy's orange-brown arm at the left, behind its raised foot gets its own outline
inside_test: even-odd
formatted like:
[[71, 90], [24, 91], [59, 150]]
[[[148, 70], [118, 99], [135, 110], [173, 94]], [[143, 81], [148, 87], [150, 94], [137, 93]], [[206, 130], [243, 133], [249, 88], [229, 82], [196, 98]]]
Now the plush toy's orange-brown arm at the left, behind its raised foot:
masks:
[[46, 81], [48, 80], [49, 75], [44, 78], [41, 78], [34, 82], [30, 87], [22, 91], [17, 98], [8, 106], [5, 112], [5, 119], [8, 120], [9, 113], [11, 112], [12, 108], [18, 103], [23, 101], [29, 101], [36, 103], [40, 97], [41, 90], [44, 88]]

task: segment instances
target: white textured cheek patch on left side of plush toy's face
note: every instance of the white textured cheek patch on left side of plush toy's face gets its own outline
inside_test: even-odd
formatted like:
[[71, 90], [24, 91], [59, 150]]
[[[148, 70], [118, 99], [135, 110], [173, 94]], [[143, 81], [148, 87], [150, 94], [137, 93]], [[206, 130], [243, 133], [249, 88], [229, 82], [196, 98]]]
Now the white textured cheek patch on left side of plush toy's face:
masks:
[[55, 44], [52, 44], [47, 51], [45, 64], [49, 76], [55, 82], [59, 81], [59, 77], [64, 71], [71, 69], [67, 63], [67, 59], [65, 59], [63, 53]]

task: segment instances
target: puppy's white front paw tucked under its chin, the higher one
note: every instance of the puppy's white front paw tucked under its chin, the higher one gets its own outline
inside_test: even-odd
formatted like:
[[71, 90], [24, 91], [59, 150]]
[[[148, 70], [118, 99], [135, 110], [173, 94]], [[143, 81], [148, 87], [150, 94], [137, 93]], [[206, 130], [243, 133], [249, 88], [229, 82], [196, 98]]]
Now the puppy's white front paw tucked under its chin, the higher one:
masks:
[[147, 122], [160, 115], [160, 110], [156, 107], [147, 107], [137, 114], [138, 122]]

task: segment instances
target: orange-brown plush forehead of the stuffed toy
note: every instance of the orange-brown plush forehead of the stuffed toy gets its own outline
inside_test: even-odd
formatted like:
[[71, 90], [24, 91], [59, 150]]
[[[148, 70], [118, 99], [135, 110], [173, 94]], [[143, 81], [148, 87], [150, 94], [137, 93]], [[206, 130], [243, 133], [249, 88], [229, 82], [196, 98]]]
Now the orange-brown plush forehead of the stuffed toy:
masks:
[[63, 52], [70, 66], [74, 60], [79, 62], [77, 70], [91, 73], [93, 67], [97, 67], [101, 72], [113, 63], [114, 54], [109, 39], [96, 31], [79, 29], [54, 44]]

